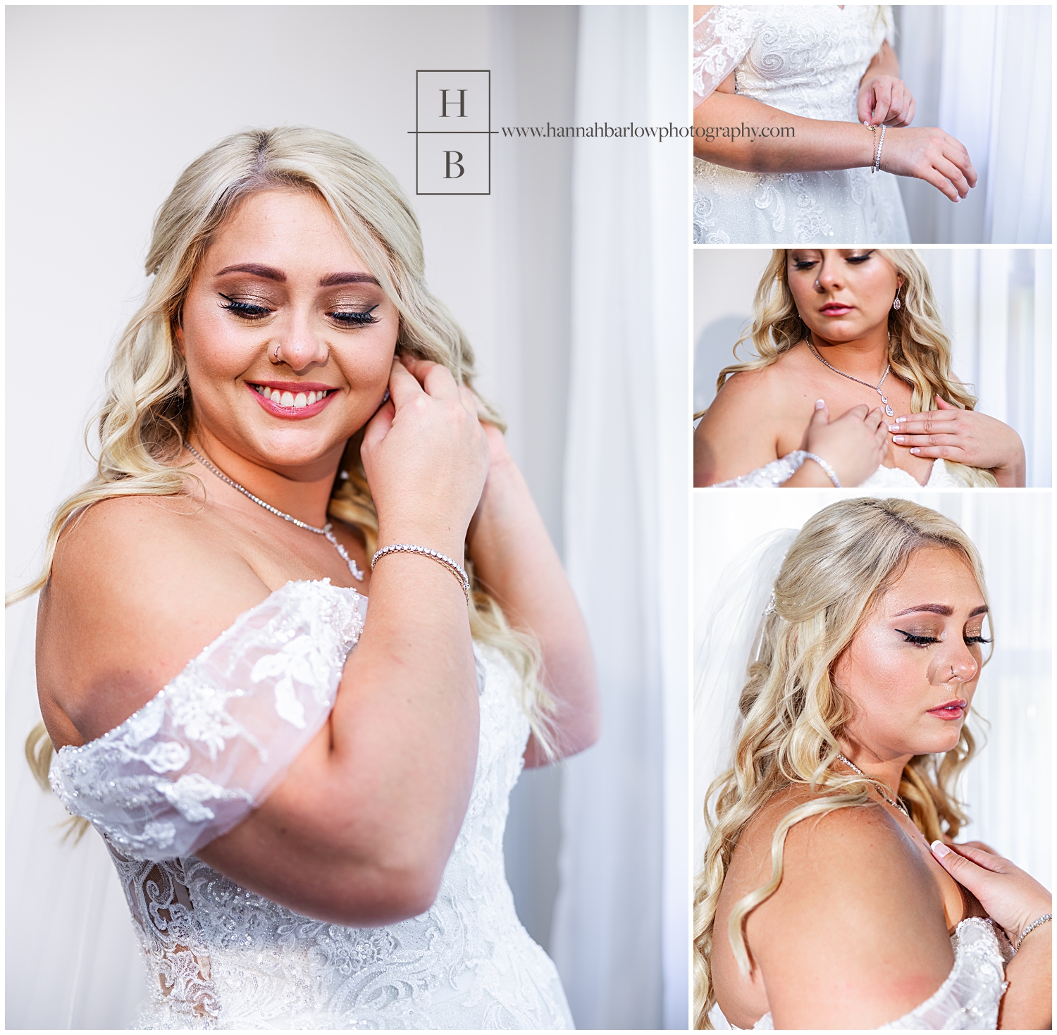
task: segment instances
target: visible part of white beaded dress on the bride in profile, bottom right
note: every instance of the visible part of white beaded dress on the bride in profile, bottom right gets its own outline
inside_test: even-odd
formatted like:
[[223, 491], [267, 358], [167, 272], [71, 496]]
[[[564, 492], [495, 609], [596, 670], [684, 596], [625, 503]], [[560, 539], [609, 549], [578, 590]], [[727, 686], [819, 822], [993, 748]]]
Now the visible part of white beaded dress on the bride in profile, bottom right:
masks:
[[[989, 1031], [998, 1028], [998, 1004], [1005, 992], [1004, 948], [989, 921], [963, 920], [950, 938], [954, 965], [947, 980], [920, 1006], [877, 1031]], [[717, 1008], [718, 1012], [718, 1008]], [[722, 1014], [720, 1014], [722, 1017]], [[753, 1031], [775, 1030], [764, 1014]]]

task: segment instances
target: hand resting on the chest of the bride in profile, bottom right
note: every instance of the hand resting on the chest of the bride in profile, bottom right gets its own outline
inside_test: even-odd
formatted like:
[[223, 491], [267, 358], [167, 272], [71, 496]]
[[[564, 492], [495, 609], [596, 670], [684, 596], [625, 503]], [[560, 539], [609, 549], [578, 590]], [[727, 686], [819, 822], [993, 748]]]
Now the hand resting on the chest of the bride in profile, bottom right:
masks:
[[959, 884], [971, 891], [1013, 945], [1032, 921], [1052, 911], [1053, 898], [1030, 873], [1001, 855], [970, 845], [932, 843], [932, 854]]

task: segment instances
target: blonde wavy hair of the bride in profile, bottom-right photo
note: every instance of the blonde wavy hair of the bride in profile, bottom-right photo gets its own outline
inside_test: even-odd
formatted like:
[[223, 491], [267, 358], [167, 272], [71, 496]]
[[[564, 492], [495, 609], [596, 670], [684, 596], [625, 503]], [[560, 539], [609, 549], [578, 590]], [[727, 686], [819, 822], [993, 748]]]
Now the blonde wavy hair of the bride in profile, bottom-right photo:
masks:
[[[874, 801], [876, 781], [831, 769], [853, 704], [833, 682], [833, 667], [864, 620], [919, 550], [958, 554], [986, 599], [980, 555], [949, 518], [903, 499], [842, 500], [812, 517], [797, 535], [775, 581], [774, 610], [763, 618], [760, 647], [739, 700], [741, 733], [734, 765], [705, 796], [708, 845], [694, 885], [693, 984], [696, 1027], [710, 1029], [713, 924], [723, 881], [742, 831], [779, 792], [810, 788], [812, 800], [792, 809], [771, 844], [771, 879], [741, 899], [726, 935], [742, 974], [752, 972], [744, 922], [782, 880], [785, 835], [810, 816]], [[989, 655], [988, 655], [989, 657]], [[984, 660], [985, 662], [987, 659]], [[963, 725], [943, 755], [907, 762], [898, 796], [929, 842], [954, 837], [968, 821], [954, 784], [976, 744]], [[715, 799], [715, 802], [712, 801]]]

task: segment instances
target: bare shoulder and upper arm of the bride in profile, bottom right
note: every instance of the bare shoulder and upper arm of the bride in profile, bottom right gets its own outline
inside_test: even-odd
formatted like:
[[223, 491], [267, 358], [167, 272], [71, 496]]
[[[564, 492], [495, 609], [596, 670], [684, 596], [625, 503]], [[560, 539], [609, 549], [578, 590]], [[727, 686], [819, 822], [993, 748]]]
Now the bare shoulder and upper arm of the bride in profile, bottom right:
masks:
[[[813, 798], [791, 789], [773, 799], [746, 849], [759, 855], [766, 843], [769, 856], [781, 818]], [[794, 824], [781, 885], [746, 932], [776, 1029], [877, 1028], [928, 999], [953, 962], [939, 887], [878, 805]]]

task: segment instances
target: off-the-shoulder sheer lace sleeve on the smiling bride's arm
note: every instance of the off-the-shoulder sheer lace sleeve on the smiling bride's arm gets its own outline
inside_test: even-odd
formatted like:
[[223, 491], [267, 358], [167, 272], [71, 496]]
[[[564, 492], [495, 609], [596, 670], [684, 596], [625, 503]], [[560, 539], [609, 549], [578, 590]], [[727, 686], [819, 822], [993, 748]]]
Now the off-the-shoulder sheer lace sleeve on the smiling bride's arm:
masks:
[[119, 726], [52, 761], [52, 788], [124, 855], [190, 855], [263, 801], [327, 721], [367, 599], [288, 583]]

